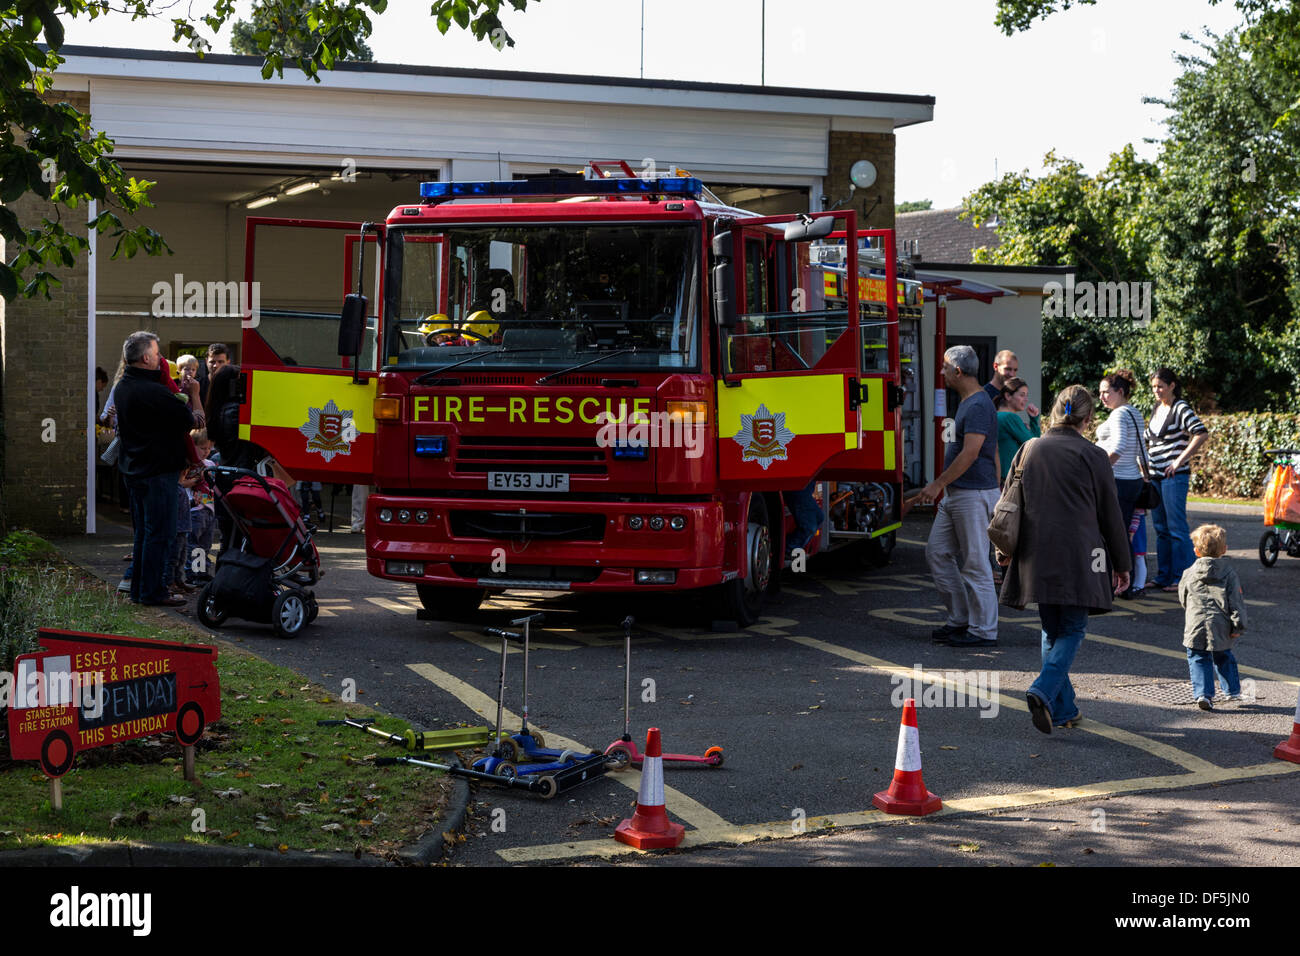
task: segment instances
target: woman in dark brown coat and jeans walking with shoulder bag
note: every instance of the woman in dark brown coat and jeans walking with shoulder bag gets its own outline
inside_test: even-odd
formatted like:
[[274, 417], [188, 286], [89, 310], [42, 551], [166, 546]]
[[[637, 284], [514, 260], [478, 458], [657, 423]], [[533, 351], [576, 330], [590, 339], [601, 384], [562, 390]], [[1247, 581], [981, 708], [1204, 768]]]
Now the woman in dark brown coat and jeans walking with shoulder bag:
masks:
[[1083, 437], [1092, 411], [1088, 390], [1070, 385], [1056, 398], [1050, 431], [1020, 446], [1011, 463], [1013, 475], [1023, 472], [1020, 533], [1015, 554], [997, 555], [1000, 564], [1010, 564], [1002, 604], [1039, 605], [1043, 671], [1027, 698], [1034, 726], [1044, 734], [1079, 719], [1070, 665], [1088, 614], [1109, 611], [1132, 570], [1110, 459]]

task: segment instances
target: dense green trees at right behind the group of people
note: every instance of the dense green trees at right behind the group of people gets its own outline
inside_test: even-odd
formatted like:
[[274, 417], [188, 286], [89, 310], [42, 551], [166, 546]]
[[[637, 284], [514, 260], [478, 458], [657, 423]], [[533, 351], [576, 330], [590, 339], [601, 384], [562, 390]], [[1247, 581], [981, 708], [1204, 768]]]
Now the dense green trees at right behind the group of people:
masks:
[[[983, 261], [1074, 265], [1080, 282], [1152, 282], [1154, 317], [1145, 326], [1044, 317], [1052, 388], [1115, 367], [1144, 378], [1169, 365], [1205, 406], [1295, 407], [1300, 12], [1269, 0], [1236, 5], [1243, 26], [1208, 34], [1193, 55], [1178, 57], [1183, 72], [1169, 98], [1150, 100], [1169, 111], [1153, 163], [1124, 147], [1089, 177], [1048, 153], [1043, 176], [1013, 173], [966, 200], [976, 222], [1000, 220], [1002, 245], [980, 251]], [[998, 16], [1063, 8], [1001, 3]]]

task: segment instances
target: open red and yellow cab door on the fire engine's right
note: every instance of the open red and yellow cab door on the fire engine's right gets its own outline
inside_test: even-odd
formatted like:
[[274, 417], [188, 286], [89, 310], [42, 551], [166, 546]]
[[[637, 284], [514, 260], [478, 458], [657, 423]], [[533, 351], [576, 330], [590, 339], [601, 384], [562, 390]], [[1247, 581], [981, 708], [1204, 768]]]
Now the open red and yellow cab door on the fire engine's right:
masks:
[[[833, 217], [850, 237], [846, 255], [857, 269], [854, 213], [814, 219], [823, 217]], [[857, 287], [842, 306], [827, 299], [814, 242], [785, 238], [786, 225], [801, 219], [742, 219], [714, 239], [723, 488], [801, 489], [827, 462], [858, 445], [852, 407]], [[719, 295], [723, 286], [731, 289], [733, 310]]]

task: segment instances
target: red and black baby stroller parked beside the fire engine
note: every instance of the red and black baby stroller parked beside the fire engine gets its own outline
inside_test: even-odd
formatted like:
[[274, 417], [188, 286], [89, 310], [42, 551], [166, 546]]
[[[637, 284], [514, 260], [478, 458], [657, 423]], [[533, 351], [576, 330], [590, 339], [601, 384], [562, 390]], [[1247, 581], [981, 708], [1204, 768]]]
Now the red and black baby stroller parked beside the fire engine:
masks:
[[280, 479], [246, 468], [205, 468], [216, 503], [230, 515], [216, 574], [199, 592], [199, 620], [221, 627], [226, 618], [270, 623], [295, 637], [316, 619], [311, 585], [321, 579], [312, 528]]

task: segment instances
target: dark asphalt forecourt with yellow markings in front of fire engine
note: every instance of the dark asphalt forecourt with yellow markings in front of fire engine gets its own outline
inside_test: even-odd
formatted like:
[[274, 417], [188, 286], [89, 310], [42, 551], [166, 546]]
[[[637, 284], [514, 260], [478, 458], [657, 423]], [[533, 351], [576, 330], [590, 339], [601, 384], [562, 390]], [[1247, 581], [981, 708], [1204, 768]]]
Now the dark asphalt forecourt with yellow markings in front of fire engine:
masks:
[[[455, 864], [1296, 864], [1300, 851], [1279, 832], [1300, 822], [1300, 765], [1271, 750], [1290, 734], [1300, 687], [1300, 559], [1260, 564], [1257, 510], [1193, 505], [1190, 520], [1228, 532], [1251, 614], [1236, 649], [1247, 700], [1213, 713], [1195, 706], [1176, 596], [1149, 593], [1089, 620], [1072, 670], [1084, 721], [1050, 736], [1024, 706], [1039, 670], [1034, 609], [1001, 609], [996, 649], [931, 641], [942, 610], [924, 563], [926, 515], [909, 516], [888, 567], [827, 555], [786, 572], [746, 631], [711, 630], [681, 594], [511, 592], [472, 623], [420, 620], [415, 588], [370, 578], [361, 536], [335, 532], [318, 536], [328, 574], [312, 627], [285, 641], [231, 620], [217, 636], [326, 688], [352, 679], [360, 702], [437, 730], [495, 719], [499, 644], [482, 627], [543, 610], [530, 724], [549, 745], [603, 750], [623, 734], [618, 622], [632, 614], [638, 747], [656, 726], [666, 752], [724, 749], [722, 767], [666, 765], [684, 849], [650, 857], [612, 839], [634, 808], [632, 770], [554, 800], [477, 786]], [[100, 535], [58, 545], [116, 581], [130, 538], [101, 522]], [[192, 602], [185, 613], [192, 617]], [[506, 727], [517, 730], [523, 656], [507, 663]], [[945, 805], [919, 821], [871, 805], [893, 773], [904, 696], [918, 698], [926, 784]], [[1213, 853], [1188, 843], [1197, 827], [1221, 835]]]

